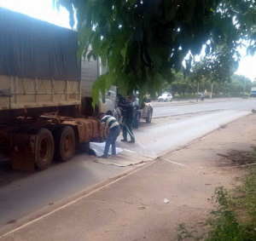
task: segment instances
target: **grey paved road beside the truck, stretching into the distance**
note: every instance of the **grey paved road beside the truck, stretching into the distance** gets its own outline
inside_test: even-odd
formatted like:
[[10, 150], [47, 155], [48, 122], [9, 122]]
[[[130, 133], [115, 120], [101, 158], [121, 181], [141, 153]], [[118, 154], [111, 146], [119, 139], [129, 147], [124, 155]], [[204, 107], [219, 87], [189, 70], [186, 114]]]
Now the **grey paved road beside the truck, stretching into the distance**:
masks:
[[[135, 130], [137, 139], [135, 145], [131, 146], [118, 141], [118, 146], [152, 157], [161, 156], [210, 133], [220, 125], [247, 115], [251, 111], [251, 101], [243, 102], [242, 100], [243, 106], [247, 103], [247, 110], [220, 110], [218, 107], [218, 111], [207, 114], [201, 112], [173, 115], [168, 118], [154, 117], [153, 123], [142, 123], [140, 128]], [[241, 102], [238, 103], [240, 105]], [[181, 102], [178, 104], [181, 105]], [[162, 107], [156, 107], [156, 105], [158, 103], [155, 103], [154, 112], [161, 108], [166, 112], [166, 103], [161, 103]], [[175, 104], [172, 101], [170, 105]], [[224, 106], [224, 102], [218, 101], [215, 105]], [[189, 108], [189, 110], [196, 109], [197, 106], [199, 105], [190, 102], [183, 103], [183, 108]], [[200, 103], [200, 106], [203, 104]], [[183, 108], [178, 106], [176, 112], [181, 112]], [[120, 168], [97, 164], [84, 152], [78, 152], [71, 162], [54, 164], [43, 172], [29, 174], [9, 171], [9, 164], [3, 162], [0, 165], [2, 170], [0, 180], [4, 184], [0, 187], [0, 227], [131, 169], [133, 169], [132, 166]]]

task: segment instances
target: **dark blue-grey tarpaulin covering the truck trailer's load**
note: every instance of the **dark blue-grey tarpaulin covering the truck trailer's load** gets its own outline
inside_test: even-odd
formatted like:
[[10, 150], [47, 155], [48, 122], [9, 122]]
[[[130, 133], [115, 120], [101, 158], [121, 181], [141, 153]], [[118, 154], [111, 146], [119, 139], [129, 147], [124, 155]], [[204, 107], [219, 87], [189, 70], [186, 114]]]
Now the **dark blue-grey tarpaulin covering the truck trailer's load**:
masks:
[[0, 74], [81, 78], [77, 33], [0, 8]]

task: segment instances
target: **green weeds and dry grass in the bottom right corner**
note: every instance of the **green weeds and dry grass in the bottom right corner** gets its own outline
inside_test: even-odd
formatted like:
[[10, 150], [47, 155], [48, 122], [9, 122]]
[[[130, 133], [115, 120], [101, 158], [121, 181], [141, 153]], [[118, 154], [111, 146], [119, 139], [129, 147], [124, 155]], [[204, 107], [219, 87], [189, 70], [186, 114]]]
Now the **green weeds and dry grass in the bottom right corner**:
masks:
[[[256, 148], [252, 164], [256, 163]], [[212, 200], [218, 206], [212, 210], [201, 231], [186, 224], [177, 227], [177, 240], [253, 241], [256, 240], [256, 167], [246, 175], [241, 186], [228, 190], [218, 187]]]

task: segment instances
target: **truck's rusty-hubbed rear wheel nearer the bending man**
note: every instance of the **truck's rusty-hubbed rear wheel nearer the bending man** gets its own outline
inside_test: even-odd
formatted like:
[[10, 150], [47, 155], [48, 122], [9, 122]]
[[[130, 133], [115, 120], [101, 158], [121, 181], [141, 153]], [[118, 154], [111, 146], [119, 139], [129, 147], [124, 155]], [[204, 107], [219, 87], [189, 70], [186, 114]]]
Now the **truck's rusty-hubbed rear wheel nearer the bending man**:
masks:
[[76, 147], [76, 139], [73, 129], [70, 126], [61, 125], [54, 132], [56, 160], [67, 162], [73, 158]]

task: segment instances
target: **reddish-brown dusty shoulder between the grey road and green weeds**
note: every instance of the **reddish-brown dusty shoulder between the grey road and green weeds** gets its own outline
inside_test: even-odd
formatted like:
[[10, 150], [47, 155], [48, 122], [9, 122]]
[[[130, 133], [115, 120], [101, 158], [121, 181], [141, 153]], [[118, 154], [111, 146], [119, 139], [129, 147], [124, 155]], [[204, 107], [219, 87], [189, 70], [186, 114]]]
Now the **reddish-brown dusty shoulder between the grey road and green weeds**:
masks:
[[176, 240], [178, 224], [201, 223], [214, 207], [214, 189], [241, 175], [224, 169], [218, 153], [240, 146], [249, 151], [254, 136], [242, 143], [240, 136], [255, 129], [255, 117], [9, 223], [0, 240]]

